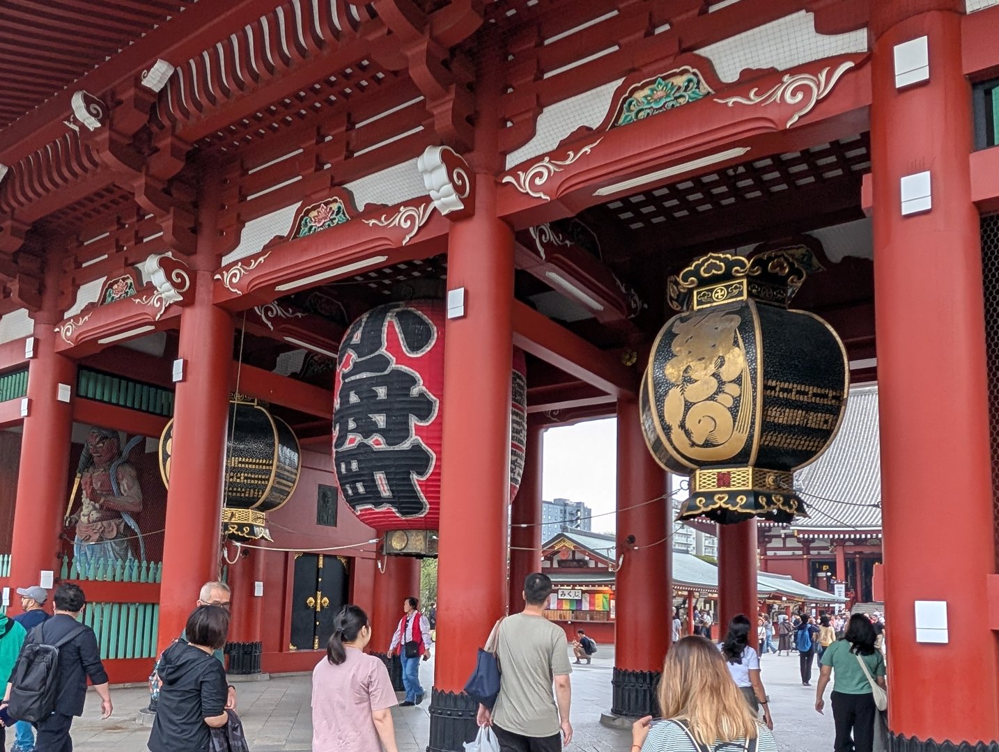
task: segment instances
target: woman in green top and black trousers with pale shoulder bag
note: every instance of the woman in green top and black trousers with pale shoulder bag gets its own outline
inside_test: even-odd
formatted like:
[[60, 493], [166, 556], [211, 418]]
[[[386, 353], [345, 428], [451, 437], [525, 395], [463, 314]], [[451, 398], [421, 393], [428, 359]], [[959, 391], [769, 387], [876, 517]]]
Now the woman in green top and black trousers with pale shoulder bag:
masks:
[[874, 721], [878, 710], [867, 674], [878, 686], [885, 687], [884, 658], [881, 651], [874, 647], [876, 639], [870, 619], [855, 613], [846, 627], [846, 637], [833, 642], [822, 655], [822, 673], [815, 688], [815, 709], [821, 713], [825, 707], [822, 695], [835, 672], [836, 680], [832, 687], [835, 752], [850, 752], [853, 749], [856, 752], [871, 752], [874, 746]]

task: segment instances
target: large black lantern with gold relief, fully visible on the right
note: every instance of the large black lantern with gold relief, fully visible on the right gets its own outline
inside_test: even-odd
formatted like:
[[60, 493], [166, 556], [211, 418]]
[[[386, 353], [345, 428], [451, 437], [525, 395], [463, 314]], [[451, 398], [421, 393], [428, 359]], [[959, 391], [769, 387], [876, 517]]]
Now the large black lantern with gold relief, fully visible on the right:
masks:
[[805, 275], [779, 250], [709, 254], [669, 279], [683, 313], [655, 340], [639, 405], [652, 455], [691, 476], [679, 518], [804, 514], [793, 472], [832, 441], [849, 385], [836, 333], [787, 310]]

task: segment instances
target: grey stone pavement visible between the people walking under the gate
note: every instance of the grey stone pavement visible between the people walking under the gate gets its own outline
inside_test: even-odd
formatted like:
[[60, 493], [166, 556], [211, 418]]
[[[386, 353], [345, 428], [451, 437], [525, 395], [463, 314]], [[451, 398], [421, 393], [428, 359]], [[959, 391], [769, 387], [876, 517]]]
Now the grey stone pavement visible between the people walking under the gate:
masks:
[[[317, 660], [319, 656], [317, 656]], [[430, 684], [433, 663], [421, 669], [425, 686]], [[600, 713], [610, 707], [610, 677], [613, 648], [601, 646], [591, 665], [573, 665], [572, 726], [575, 737], [570, 750], [580, 752], [627, 752], [630, 735], [604, 728]], [[813, 676], [812, 684], [817, 680]], [[766, 656], [763, 659], [763, 682], [771, 700], [774, 735], [781, 750], [828, 752], [832, 747], [831, 710], [824, 716], [814, 710], [814, 687], [802, 687], [796, 655]], [[241, 682], [240, 715], [247, 730], [252, 752], [305, 752], [311, 749], [312, 716], [311, 677], [308, 675], [274, 676], [271, 681]], [[115, 713], [107, 721], [100, 719], [100, 701], [94, 692], [87, 695], [82, 718], [73, 725], [76, 752], [143, 752], [149, 727], [136, 723], [138, 710], [148, 702], [145, 689], [112, 689]], [[828, 694], [826, 695], [828, 708]], [[424, 752], [430, 730], [427, 701], [414, 708], [396, 708], [396, 738], [401, 752]], [[13, 743], [13, 734], [8, 735]]]

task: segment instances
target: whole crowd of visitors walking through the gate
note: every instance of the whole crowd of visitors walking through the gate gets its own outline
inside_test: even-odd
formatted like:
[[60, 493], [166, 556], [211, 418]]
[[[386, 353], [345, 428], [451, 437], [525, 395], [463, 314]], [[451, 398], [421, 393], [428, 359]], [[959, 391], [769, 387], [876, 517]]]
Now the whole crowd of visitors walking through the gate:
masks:
[[[502, 666], [499, 694], [495, 702], [480, 705], [477, 720], [489, 727], [500, 752], [555, 752], [572, 738], [572, 668], [565, 635], [544, 617], [551, 591], [546, 575], [528, 575], [522, 610], [500, 619], [494, 630], [492, 649]], [[50, 616], [47, 590], [34, 586], [18, 594], [24, 612], [13, 619], [0, 614], [0, 679], [6, 687], [0, 749], [6, 727], [12, 726], [11, 752], [71, 752], [70, 729], [83, 712], [88, 679], [100, 698], [102, 717], [113, 711], [96, 636], [79, 622], [86, 597], [79, 585], [60, 584]], [[150, 677], [158, 711], [148, 742], [152, 752], [249, 749], [222, 655], [230, 598], [225, 583], [206, 583], [184, 631], [157, 661]], [[392, 708], [424, 701], [420, 666], [431, 657], [437, 615], [434, 606], [432, 616], [421, 613], [416, 597], [407, 598], [402, 610], [388, 646], [403, 666], [402, 703], [386, 663], [365, 651], [372, 638], [368, 614], [353, 604], [337, 614], [326, 655], [313, 672], [315, 752], [398, 752]], [[764, 614], [755, 624], [739, 614], [720, 641], [710, 639], [712, 624], [711, 614], [698, 612], [696, 633], [682, 636], [680, 613], [674, 612], [673, 645], [658, 689], [662, 715], [635, 722], [631, 752], [713, 752], [727, 745], [775, 752], [760, 655], [792, 651], [800, 657], [804, 686], [811, 686], [818, 658], [819, 713], [833, 683], [835, 752], [872, 752], [878, 735], [885, 733], [884, 703], [879, 703], [886, 673], [880, 613]], [[750, 639], [754, 628], [758, 651]], [[582, 629], [571, 647], [575, 663], [589, 663], [596, 652], [596, 643]]]

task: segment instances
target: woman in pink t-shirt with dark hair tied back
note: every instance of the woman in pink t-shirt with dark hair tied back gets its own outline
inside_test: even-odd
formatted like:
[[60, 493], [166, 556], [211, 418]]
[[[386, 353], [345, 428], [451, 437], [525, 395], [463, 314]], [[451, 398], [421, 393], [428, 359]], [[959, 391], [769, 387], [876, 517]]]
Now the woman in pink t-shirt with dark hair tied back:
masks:
[[385, 664], [364, 652], [372, 626], [358, 606], [337, 614], [327, 657], [313, 671], [313, 752], [399, 752]]

